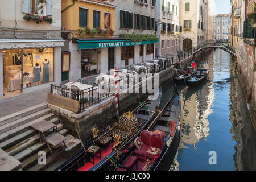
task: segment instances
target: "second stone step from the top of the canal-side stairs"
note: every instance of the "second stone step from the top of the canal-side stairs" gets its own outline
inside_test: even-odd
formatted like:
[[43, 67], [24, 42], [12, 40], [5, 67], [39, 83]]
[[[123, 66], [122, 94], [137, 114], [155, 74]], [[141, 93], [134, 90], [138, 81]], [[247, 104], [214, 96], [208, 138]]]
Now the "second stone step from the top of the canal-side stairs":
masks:
[[26, 115], [25, 117], [16, 119], [15, 121], [6, 123], [5, 125], [0, 126], [0, 134], [15, 129], [16, 127], [25, 125], [26, 123], [34, 121], [35, 119], [38, 119], [48, 113], [51, 113], [51, 109], [46, 108], [40, 111], [36, 111], [35, 113], [32, 113], [30, 115]]

